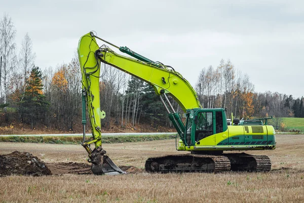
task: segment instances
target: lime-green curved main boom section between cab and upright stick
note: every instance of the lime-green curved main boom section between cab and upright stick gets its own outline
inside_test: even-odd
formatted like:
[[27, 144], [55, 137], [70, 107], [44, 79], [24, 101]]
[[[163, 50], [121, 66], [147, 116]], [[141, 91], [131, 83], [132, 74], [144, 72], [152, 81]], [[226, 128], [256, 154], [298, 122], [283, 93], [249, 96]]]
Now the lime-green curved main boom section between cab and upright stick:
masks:
[[184, 112], [187, 109], [201, 108], [196, 91], [178, 72], [119, 55], [110, 49], [104, 49], [101, 53], [102, 62], [145, 81], [154, 87], [156, 94], [161, 94], [161, 90], [164, 90], [164, 93], [177, 101]]

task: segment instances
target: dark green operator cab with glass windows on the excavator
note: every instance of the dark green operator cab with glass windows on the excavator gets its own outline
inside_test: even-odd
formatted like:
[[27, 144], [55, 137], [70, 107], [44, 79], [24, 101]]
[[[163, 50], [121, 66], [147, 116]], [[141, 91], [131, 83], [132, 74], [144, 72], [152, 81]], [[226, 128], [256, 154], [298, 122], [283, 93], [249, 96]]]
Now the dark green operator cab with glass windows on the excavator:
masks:
[[223, 132], [227, 129], [224, 109], [192, 109], [186, 113], [186, 138], [188, 146], [196, 142]]

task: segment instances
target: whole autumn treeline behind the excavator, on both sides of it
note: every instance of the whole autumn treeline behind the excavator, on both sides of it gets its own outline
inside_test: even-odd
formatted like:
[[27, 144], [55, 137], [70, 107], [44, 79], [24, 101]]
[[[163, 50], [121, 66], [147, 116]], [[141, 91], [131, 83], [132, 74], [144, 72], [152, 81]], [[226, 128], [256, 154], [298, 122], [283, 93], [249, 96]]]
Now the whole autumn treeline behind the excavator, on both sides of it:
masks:
[[[16, 29], [11, 18], [0, 20], [0, 125], [12, 122], [31, 128], [46, 126], [62, 130], [81, 129], [82, 84], [78, 56], [69, 63], [43, 70], [34, 65], [35, 54], [28, 34], [17, 50]], [[151, 128], [171, 126], [167, 113], [154, 92], [143, 81], [109, 65], [101, 65], [100, 105], [106, 112], [103, 127], [125, 128], [140, 123]], [[203, 108], [226, 108], [227, 116], [303, 117], [303, 98], [280, 93], [256, 93], [246, 74], [230, 60], [202, 69], [195, 89]], [[181, 112], [178, 104], [173, 108]]]

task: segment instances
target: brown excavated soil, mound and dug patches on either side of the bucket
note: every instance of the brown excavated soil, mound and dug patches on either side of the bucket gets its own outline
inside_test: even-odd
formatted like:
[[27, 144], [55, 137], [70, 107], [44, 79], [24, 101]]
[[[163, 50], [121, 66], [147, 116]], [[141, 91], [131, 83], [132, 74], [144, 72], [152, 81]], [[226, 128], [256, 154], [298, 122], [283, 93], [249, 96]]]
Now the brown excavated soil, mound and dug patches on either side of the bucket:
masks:
[[[128, 174], [144, 172], [134, 166], [119, 166]], [[77, 162], [45, 163], [29, 152], [15, 151], [11, 154], [0, 155], [0, 177], [11, 175], [45, 176], [63, 174], [93, 174], [91, 165]]]

